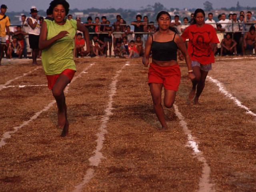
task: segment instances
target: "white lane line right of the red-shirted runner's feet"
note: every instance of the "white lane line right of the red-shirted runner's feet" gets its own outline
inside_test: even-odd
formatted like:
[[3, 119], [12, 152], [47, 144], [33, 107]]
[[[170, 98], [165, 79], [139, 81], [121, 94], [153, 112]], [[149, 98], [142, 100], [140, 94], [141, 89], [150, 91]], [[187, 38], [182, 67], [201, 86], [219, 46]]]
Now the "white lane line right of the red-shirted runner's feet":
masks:
[[229, 93], [227, 90], [225, 90], [223, 84], [220, 81], [218, 81], [218, 80], [216, 80], [216, 79], [214, 79], [214, 78], [212, 78], [210, 76], [207, 77], [207, 80], [209, 80], [210, 82], [213, 82], [214, 84], [216, 84], [216, 86], [218, 86], [220, 92], [222, 92], [226, 97], [228, 97], [231, 100], [233, 100], [237, 106], [239, 106], [242, 109], [245, 109], [247, 114], [250, 114], [250, 115], [256, 117], [256, 114], [254, 112], [252, 112], [250, 110], [250, 108], [244, 106], [242, 104], [242, 102], [240, 102], [240, 100], [238, 100], [231, 93]]

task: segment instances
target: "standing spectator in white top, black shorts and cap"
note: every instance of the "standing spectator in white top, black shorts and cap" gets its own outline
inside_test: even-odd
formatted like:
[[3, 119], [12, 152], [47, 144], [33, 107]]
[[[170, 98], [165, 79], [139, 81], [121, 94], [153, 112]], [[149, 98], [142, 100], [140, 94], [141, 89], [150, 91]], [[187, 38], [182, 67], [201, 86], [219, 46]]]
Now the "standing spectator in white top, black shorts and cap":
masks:
[[36, 58], [38, 57], [39, 53], [39, 36], [40, 36], [40, 22], [39, 17], [37, 15], [38, 10], [36, 8], [30, 9], [31, 17], [28, 18], [28, 38], [29, 38], [29, 45], [32, 49], [32, 59], [33, 64], [36, 65]]

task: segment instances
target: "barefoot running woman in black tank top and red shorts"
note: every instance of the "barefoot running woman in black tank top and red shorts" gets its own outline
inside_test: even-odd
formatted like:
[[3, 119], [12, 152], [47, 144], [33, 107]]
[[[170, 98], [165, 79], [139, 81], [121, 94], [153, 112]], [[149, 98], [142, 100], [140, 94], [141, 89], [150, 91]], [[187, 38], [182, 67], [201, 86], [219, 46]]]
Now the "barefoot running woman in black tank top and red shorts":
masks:
[[176, 28], [170, 28], [171, 16], [168, 12], [158, 13], [156, 20], [159, 30], [149, 36], [146, 41], [144, 58], [145, 67], [149, 64], [149, 54], [152, 50], [152, 63], [148, 72], [148, 84], [154, 104], [156, 116], [162, 125], [162, 129], [168, 128], [162, 107], [162, 87], [164, 86], [164, 105], [171, 108], [174, 104], [176, 92], [180, 84], [180, 67], [177, 62], [177, 50], [180, 49], [186, 58], [188, 77], [195, 76], [191, 67], [191, 60], [182, 38], [177, 34]]

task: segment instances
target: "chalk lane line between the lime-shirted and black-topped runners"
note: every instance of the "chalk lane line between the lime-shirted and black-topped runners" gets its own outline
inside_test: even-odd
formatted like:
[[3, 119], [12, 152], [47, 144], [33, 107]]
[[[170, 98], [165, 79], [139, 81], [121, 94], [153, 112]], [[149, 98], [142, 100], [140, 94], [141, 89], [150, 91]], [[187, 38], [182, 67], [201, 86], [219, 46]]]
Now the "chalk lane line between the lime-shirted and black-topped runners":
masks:
[[[105, 134], [107, 133], [106, 127], [108, 120], [110, 119], [110, 116], [113, 114], [113, 97], [116, 94], [116, 84], [118, 82], [118, 76], [121, 74], [122, 70], [125, 68], [125, 66], [129, 66], [129, 62], [126, 62], [122, 68], [116, 72], [116, 76], [114, 76], [112, 83], [110, 84], [110, 94], [108, 96], [108, 105], [107, 108], [105, 109], [105, 114], [101, 118], [101, 125], [100, 125], [100, 132], [98, 132], [97, 135], [97, 146], [96, 150], [94, 151], [94, 155], [89, 158], [90, 166], [98, 166], [101, 162], [101, 159], [104, 158], [100, 150], [102, 150], [103, 143], [105, 140]], [[84, 186], [93, 178], [94, 176], [94, 169], [90, 168], [87, 170], [86, 174], [84, 175], [82, 183], [78, 184], [75, 186], [75, 189], [73, 192], [80, 192], [84, 188]]]

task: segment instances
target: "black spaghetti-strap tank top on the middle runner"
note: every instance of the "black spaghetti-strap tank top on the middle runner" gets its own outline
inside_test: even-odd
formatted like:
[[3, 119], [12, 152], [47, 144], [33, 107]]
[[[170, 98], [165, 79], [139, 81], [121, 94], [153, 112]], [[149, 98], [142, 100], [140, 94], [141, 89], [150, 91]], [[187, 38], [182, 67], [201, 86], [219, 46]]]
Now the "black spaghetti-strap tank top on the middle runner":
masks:
[[152, 35], [152, 58], [157, 61], [177, 61], [177, 50], [178, 46], [174, 42], [174, 38], [176, 33], [174, 34], [173, 40], [168, 42], [156, 42], [153, 40]]

